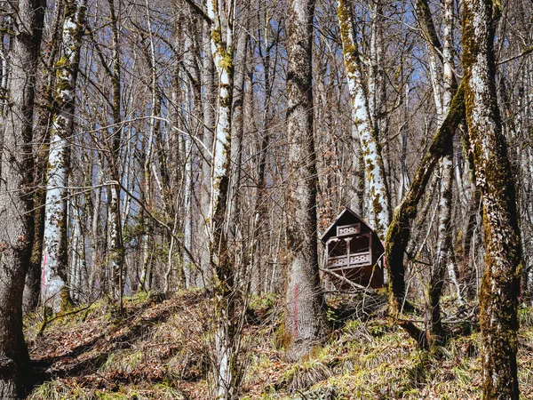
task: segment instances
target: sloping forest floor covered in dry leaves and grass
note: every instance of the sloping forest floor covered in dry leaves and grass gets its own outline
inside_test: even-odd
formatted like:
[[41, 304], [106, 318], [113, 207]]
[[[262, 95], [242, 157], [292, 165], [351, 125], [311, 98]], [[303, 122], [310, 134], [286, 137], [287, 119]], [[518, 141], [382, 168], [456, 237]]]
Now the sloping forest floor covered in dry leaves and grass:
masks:
[[[386, 319], [381, 296], [343, 295], [329, 305], [330, 337], [305, 362], [290, 364], [279, 348], [282, 302], [250, 301], [243, 399], [480, 398], [475, 322], [451, 321], [448, 344], [430, 354]], [[207, 399], [211, 312], [211, 300], [196, 290], [167, 300], [140, 294], [124, 300], [122, 314], [99, 300], [41, 333], [42, 317], [28, 316], [25, 334], [40, 382], [29, 399]], [[533, 309], [521, 309], [520, 319], [521, 398], [531, 399]]]

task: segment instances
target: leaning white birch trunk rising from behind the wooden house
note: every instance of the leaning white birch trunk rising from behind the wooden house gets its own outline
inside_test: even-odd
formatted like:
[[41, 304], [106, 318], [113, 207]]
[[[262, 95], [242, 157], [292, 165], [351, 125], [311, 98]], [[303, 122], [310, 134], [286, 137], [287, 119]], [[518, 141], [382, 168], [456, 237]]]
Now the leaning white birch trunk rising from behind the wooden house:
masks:
[[[338, 23], [346, 67], [346, 79], [352, 99], [355, 124], [361, 140], [367, 186], [373, 210], [374, 230], [383, 240], [390, 223], [390, 199], [381, 145], [370, 117], [367, 89], [363, 84], [359, 50], [355, 39], [354, 17], [349, 4], [338, 0]], [[370, 88], [369, 88], [370, 89]]]

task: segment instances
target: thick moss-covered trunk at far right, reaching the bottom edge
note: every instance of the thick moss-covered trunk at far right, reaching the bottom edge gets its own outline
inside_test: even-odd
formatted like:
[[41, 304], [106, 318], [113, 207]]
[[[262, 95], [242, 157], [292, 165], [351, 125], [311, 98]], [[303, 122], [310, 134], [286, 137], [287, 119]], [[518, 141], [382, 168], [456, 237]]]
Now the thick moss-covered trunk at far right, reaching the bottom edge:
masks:
[[517, 303], [521, 240], [512, 168], [496, 94], [495, 20], [499, 2], [465, 0], [465, 108], [481, 191], [485, 271], [480, 290], [482, 396], [518, 399]]

